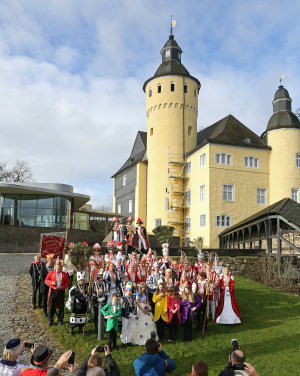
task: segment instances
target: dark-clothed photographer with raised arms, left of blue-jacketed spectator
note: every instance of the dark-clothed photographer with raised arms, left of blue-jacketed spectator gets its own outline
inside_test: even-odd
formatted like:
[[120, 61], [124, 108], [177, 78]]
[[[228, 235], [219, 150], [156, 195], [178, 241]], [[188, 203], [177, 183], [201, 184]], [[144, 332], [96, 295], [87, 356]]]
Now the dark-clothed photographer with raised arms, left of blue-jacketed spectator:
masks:
[[[102, 357], [100, 355], [101, 352], [105, 354], [105, 363], [102, 366]], [[106, 364], [109, 367], [109, 370], [105, 369]], [[92, 368], [100, 367], [104, 369], [106, 376], [120, 376], [119, 367], [111, 356], [108, 346], [97, 346], [92, 351], [91, 354], [83, 361], [81, 366], [77, 370], [77, 376], [86, 376], [87, 372]], [[95, 369], [95, 371], [97, 371]], [[91, 373], [91, 371], [89, 371]], [[98, 373], [98, 372], [96, 372]]]

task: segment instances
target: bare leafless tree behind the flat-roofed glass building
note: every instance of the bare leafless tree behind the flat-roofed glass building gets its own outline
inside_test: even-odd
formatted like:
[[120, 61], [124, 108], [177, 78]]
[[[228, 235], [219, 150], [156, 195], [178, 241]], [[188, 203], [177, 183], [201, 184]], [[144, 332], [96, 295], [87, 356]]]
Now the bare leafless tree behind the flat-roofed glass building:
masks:
[[6, 168], [4, 163], [0, 164], [0, 181], [25, 183], [32, 181], [32, 178], [31, 167], [26, 161], [16, 161], [11, 169]]

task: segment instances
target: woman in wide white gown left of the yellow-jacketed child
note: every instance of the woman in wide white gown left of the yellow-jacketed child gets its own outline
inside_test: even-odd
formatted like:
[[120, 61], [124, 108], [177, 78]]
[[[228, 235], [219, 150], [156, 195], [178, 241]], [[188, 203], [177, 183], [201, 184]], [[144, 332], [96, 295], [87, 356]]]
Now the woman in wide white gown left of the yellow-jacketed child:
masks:
[[133, 329], [131, 342], [134, 345], [145, 345], [147, 339], [151, 338], [151, 333], [155, 333], [156, 325], [153, 321], [153, 314], [148, 302], [148, 294], [146, 291], [146, 283], [141, 282], [136, 293], [137, 312], [133, 319]]

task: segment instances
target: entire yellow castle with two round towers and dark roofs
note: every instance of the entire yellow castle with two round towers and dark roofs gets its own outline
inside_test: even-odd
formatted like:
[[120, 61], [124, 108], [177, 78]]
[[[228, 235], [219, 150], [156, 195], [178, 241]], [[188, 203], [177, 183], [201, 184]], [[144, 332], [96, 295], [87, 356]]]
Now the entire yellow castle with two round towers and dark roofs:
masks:
[[182, 245], [218, 234], [283, 198], [299, 202], [300, 122], [280, 85], [258, 136], [232, 115], [197, 132], [199, 80], [181, 62], [171, 34], [162, 63], [143, 85], [147, 132], [112, 176], [113, 211], [141, 217], [148, 232], [175, 227]]

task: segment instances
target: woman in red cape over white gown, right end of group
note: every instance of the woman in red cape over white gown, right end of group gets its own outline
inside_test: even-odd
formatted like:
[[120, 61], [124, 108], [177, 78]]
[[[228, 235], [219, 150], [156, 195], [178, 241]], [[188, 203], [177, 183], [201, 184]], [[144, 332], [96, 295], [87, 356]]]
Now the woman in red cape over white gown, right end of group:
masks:
[[217, 308], [217, 324], [240, 324], [241, 314], [234, 296], [234, 280], [229, 269], [224, 269], [220, 280], [220, 301]]

